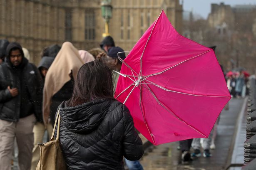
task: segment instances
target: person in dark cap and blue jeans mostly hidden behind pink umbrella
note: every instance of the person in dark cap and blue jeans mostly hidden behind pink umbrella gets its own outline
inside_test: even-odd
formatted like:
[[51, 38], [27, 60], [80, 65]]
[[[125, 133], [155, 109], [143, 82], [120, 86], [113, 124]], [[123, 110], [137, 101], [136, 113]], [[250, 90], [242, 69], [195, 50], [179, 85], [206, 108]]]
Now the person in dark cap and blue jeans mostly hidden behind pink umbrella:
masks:
[[[109, 65], [109, 67], [114, 70], [112, 71], [112, 75], [113, 75], [113, 85], [114, 85], [114, 91], [115, 88], [117, 86], [117, 81], [119, 78], [119, 74], [117, 72], [120, 72], [121, 67], [122, 67], [122, 62], [118, 59], [117, 53], [120, 53], [120, 58], [121, 59], [125, 59], [125, 54], [123, 53], [124, 50], [120, 47], [112, 47], [108, 50], [107, 53], [107, 63]], [[117, 71], [117, 72], [115, 72]], [[127, 167], [129, 168], [129, 170], [143, 170], [142, 165], [139, 163], [138, 160], [136, 161], [131, 161], [131, 160], [127, 160], [126, 158], [124, 158], [125, 163], [127, 165]]]

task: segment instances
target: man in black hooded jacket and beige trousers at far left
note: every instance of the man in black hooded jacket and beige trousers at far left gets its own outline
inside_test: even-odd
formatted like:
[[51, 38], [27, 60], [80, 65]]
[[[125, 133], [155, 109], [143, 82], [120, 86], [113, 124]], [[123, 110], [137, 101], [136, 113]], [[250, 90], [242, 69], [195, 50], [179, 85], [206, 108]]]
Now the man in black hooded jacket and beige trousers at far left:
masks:
[[0, 170], [10, 170], [14, 138], [19, 149], [20, 170], [30, 170], [33, 126], [42, 116], [42, 77], [28, 63], [17, 42], [7, 46], [0, 65]]

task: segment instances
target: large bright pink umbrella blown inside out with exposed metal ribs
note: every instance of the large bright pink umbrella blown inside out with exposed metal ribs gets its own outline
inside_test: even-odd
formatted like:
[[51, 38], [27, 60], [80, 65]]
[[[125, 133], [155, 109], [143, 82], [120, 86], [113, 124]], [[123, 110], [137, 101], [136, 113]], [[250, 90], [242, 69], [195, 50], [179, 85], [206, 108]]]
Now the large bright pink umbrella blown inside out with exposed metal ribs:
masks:
[[163, 11], [122, 62], [116, 98], [154, 145], [208, 137], [231, 99], [213, 49], [181, 36]]

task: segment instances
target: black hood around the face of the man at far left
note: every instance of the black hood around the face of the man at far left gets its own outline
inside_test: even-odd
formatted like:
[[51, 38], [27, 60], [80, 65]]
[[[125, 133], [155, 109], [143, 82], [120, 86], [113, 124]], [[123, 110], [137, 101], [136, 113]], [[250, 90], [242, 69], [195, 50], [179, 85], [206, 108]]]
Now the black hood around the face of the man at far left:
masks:
[[[12, 63], [10, 62], [10, 52], [14, 48], [19, 49], [20, 50], [20, 54], [22, 55], [22, 62], [17, 67], [14, 67], [12, 65]], [[28, 60], [24, 57], [24, 53], [23, 53], [22, 47], [20, 46], [19, 43], [17, 43], [17, 42], [10, 42], [10, 44], [8, 44], [8, 46], [6, 48], [5, 62], [8, 64], [9, 67], [12, 67], [12, 68], [23, 68], [28, 63]]]

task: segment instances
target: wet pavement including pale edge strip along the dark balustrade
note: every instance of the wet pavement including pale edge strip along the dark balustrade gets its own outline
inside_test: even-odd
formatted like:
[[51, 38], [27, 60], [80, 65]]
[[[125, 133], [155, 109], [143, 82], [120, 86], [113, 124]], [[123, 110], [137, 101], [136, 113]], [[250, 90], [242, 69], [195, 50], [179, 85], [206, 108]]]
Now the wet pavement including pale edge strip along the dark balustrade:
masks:
[[[218, 135], [215, 140], [216, 149], [211, 150], [212, 157], [204, 158], [201, 156], [200, 158], [194, 159], [191, 163], [184, 164], [181, 161], [181, 152], [177, 150], [179, 142], [158, 146], [149, 145], [140, 160], [144, 170], [241, 169], [241, 163], [244, 161], [244, 157], [242, 156], [244, 150], [241, 146], [243, 146], [245, 141], [245, 132], [243, 131], [244, 125], [241, 124], [243, 120], [240, 120], [244, 118], [246, 100], [247, 98], [231, 99], [229, 101], [229, 110], [223, 110], [221, 112]], [[239, 138], [241, 138], [241, 140], [239, 140]], [[191, 152], [192, 151], [191, 149]], [[202, 151], [203, 150], [201, 150], [201, 152]]]

